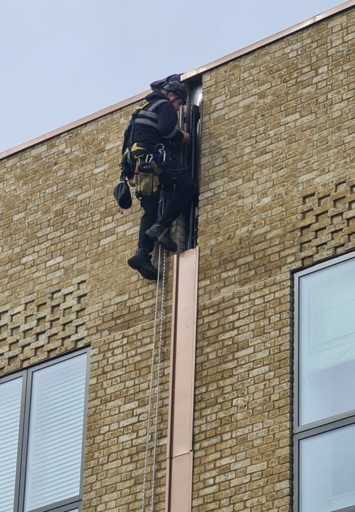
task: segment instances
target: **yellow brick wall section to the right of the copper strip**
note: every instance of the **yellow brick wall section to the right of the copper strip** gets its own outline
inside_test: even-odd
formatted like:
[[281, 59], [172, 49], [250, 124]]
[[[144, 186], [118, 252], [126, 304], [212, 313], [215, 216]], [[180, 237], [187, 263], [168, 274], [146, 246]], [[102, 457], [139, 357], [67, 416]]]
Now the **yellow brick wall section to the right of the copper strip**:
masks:
[[203, 76], [198, 512], [291, 510], [291, 271], [355, 248], [354, 13]]

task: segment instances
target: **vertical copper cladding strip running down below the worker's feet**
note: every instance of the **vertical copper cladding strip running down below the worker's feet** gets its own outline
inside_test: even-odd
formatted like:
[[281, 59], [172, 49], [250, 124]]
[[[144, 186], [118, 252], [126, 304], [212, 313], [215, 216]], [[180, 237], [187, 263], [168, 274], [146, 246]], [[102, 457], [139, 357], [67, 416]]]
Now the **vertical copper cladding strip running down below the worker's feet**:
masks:
[[198, 247], [174, 258], [166, 512], [189, 512], [197, 315]]

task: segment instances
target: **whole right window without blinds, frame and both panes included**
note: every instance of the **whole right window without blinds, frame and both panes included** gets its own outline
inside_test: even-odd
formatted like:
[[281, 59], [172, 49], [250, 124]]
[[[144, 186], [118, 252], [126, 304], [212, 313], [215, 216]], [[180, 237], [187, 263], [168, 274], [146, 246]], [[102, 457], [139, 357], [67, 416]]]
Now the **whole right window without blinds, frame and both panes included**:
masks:
[[294, 510], [353, 512], [355, 253], [294, 284]]

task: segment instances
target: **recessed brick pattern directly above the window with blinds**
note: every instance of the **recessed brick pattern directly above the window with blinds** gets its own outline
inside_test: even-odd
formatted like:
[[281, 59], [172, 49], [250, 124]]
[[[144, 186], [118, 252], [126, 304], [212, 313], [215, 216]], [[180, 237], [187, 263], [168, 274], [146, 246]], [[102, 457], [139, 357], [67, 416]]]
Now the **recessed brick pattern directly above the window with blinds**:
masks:
[[0, 311], [0, 371], [11, 372], [34, 365], [65, 350], [85, 344], [86, 281], [49, 297], [25, 296], [14, 309]]

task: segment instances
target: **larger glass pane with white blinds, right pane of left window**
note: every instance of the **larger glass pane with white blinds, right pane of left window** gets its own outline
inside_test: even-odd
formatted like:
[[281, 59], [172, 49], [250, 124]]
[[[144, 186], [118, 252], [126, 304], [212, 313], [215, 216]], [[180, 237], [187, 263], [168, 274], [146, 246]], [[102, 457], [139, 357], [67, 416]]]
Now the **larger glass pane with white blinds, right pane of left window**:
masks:
[[86, 354], [32, 376], [25, 510], [79, 494]]

